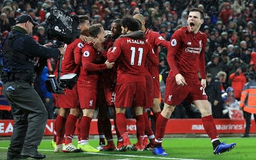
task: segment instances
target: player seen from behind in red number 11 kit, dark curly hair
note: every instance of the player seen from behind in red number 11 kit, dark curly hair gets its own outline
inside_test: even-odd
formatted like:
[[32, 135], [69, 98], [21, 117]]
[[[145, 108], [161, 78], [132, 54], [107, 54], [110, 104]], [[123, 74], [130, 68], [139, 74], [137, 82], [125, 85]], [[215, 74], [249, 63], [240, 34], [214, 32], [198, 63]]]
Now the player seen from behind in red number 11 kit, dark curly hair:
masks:
[[131, 149], [132, 145], [128, 137], [125, 122], [125, 109], [135, 104], [136, 126], [138, 132], [138, 141], [134, 146], [135, 150], [142, 151], [143, 136], [145, 130], [145, 121], [143, 118], [143, 106], [146, 98], [146, 80], [145, 61], [147, 57], [156, 66], [158, 59], [153, 53], [151, 45], [146, 41], [142, 34], [135, 39], [126, 34], [132, 31], [140, 30], [140, 23], [134, 18], [125, 17], [122, 19], [123, 37], [118, 38], [113, 49], [108, 51], [109, 62], [117, 62], [117, 85], [116, 85], [116, 123], [124, 145], [119, 151]]

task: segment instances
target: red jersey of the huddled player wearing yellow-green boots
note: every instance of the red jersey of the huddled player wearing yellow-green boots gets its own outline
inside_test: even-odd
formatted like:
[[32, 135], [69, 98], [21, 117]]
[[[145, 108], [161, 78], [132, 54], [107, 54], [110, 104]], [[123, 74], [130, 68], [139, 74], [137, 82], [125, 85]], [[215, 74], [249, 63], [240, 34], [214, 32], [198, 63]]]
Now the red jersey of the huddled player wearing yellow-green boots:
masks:
[[98, 81], [99, 70], [103, 70], [107, 68], [105, 63], [103, 64], [95, 64], [97, 60], [98, 51], [93, 48], [93, 43], [85, 43], [82, 48], [82, 66], [79, 74], [79, 78], [86, 79], [88, 81], [94, 80], [94, 82]]

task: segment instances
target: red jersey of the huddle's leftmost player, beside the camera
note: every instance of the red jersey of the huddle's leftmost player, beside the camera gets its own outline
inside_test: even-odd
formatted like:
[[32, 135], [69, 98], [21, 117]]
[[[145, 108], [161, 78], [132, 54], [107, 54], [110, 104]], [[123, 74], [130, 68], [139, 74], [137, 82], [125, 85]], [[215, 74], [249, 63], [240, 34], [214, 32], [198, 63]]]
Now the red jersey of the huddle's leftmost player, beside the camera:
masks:
[[[75, 48], [81, 50], [83, 42], [80, 38], [76, 38], [69, 45], [65, 44], [65, 54], [61, 61], [61, 75], [68, 73], [79, 73], [79, 65], [75, 63]], [[80, 53], [81, 54], [81, 53]]]

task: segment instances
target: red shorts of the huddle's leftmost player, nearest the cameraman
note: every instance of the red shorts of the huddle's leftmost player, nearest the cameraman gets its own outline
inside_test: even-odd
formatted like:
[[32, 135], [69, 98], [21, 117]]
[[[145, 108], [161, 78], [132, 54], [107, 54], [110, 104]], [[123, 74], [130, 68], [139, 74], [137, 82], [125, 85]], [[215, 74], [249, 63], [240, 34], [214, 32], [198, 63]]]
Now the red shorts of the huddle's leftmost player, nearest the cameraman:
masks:
[[76, 108], [78, 107], [77, 85], [72, 90], [66, 89], [65, 94], [58, 95], [60, 108]]

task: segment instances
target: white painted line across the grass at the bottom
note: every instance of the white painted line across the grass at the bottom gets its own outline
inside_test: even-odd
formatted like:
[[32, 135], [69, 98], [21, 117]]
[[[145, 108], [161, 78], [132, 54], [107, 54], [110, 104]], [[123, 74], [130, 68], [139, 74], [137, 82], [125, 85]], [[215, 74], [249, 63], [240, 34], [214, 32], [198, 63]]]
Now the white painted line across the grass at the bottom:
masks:
[[[7, 147], [0, 147], [0, 149], [8, 149]], [[53, 151], [52, 149], [37, 149], [42, 151]], [[169, 158], [169, 157], [155, 157], [155, 156], [137, 156], [137, 155], [120, 155], [120, 154], [102, 154], [102, 153], [86, 153], [91, 155], [104, 155], [104, 156], [118, 156], [118, 157], [137, 157], [137, 158], [152, 158], [152, 159], [174, 159], [174, 160], [203, 160], [203, 159], [188, 159], [188, 158]]]

